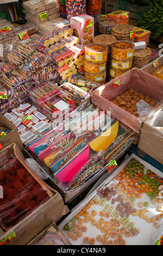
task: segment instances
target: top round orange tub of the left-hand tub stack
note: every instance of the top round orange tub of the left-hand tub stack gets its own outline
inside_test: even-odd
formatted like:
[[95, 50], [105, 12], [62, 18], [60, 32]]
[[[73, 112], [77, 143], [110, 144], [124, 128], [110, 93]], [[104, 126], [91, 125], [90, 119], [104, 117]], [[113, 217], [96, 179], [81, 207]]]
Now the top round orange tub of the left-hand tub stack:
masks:
[[104, 63], [108, 58], [108, 46], [92, 43], [85, 46], [85, 59], [93, 63]]

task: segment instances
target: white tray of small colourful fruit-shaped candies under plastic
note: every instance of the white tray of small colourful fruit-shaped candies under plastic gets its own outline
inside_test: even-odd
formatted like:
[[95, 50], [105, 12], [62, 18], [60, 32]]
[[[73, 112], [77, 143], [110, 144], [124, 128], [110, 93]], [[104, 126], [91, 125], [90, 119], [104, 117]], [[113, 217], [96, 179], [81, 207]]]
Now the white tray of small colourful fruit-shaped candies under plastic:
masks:
[[[148, 176], [141, 185], [137, 174]], [[73, 245], [151, 245], [162, 235], [158, 210], [162, 197], [158, 192], [153, 195], [162, 177], [158, 169], [132, 154], [72, 210], [59, 229]], [[147, 179], [155, 182], [149, 185]]]

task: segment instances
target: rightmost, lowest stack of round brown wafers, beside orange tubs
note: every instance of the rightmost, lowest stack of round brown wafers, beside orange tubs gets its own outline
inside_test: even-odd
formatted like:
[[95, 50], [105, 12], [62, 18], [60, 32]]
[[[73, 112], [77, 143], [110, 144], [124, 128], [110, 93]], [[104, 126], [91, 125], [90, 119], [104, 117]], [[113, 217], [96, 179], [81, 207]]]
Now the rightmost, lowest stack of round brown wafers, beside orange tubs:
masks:
[[143, 50], [136, 50], [133, 56], [132, 68], [141, 69], [149, 63], [152, 50], [147, 46]]

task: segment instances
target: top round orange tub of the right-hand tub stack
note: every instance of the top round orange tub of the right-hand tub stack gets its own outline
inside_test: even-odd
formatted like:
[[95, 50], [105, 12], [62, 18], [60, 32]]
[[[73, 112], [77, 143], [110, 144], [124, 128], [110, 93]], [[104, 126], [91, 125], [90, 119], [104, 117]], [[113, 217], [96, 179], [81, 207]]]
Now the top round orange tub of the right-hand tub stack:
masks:
[[114, 59], [125, 60], [133, 57], [135, 45], [126, 40], [113, 42], [111, 45], [111, 56]]

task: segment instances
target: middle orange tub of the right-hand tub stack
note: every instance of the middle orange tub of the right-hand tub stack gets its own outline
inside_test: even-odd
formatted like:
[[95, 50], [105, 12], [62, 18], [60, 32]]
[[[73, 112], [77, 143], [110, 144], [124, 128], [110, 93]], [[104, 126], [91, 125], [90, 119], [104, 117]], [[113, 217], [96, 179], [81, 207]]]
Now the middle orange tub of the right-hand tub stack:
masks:
[[111, 68], [114, 68], [114, 69], [122, 69], [122, 70], [126, 70], [126, 69], [130, 69], [131, 66], [132, 66], [132, 62], [133, 62], [133, 58], [130, 58], [130, 59], [121, 59], [121, 60], [118, 60], [118, 59], [114, 59], [114, 58], [111, 58], [111, 61], [110, 61], [110, 65], [111, 65]]

